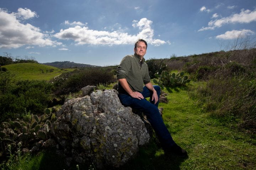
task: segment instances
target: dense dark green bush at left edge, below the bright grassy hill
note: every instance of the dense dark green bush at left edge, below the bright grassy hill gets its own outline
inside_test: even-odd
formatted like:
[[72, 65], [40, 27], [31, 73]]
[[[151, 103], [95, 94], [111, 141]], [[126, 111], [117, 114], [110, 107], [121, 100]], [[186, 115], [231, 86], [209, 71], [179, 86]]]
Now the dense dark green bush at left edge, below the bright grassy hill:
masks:
[[51, 84], [38, 80], [9, 80], [10, 74], [0, 76], [0, 121], [14, 118], [17, 113], [23, 116], [27, 112], [44, 112], [51, 99]]

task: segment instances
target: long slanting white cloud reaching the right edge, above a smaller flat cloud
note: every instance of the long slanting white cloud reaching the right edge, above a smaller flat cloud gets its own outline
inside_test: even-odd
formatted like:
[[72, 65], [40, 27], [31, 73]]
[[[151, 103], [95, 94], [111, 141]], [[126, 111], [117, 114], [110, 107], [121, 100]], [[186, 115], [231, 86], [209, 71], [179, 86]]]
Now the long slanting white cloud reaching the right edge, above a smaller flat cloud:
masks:
[[244, 10], [242, 9], [240, 13], [235, 13], [229, 17], [223, 17], [220, 19], [215, 19], [214, 21], [210, 21], [208, 23], [209, 27], [202, 27], [198, 31], [208, 30], [208, 29], [215, 29], [216, 27], [221, 27], [223, 24], [229, 23], [250, 23], [256, 21], [256, 10]]

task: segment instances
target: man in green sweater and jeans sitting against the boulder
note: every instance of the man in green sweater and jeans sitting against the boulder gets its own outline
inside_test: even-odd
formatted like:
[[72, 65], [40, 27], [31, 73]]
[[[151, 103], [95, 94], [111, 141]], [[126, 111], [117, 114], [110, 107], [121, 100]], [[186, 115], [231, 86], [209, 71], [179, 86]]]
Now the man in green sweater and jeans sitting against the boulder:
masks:
[[[118, 97], [124, 106], [139, 109], [146, 114], [165, 154], [184, 157], [187, 152], [172, 140], [160, 116], [158, 103], [161, 89], [150, 83], [148, 65], [143, 58], [147, 47], [146, 41], [139, 39], [134, 45], [134, 55], [124, 57], [118, 66]], [[150, 97], [150, 102], [145, 99], [146, 97]]]

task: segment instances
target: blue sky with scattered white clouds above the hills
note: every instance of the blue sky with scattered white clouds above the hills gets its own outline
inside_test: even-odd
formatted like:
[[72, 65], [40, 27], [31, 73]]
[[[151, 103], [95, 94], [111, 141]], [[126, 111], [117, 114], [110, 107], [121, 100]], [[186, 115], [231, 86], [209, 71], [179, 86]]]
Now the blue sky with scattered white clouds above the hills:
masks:
[[113, 66], [229, 50], [256, 36], [255, 0], [0, 0], [0, 56]]

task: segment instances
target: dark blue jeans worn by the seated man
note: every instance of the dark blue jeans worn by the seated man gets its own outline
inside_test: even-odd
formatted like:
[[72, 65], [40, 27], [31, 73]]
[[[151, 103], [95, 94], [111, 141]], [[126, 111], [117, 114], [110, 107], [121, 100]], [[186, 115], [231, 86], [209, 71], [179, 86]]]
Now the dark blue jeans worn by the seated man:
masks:
[[[161, 92], [160, 87], [154, 85], [154, 89], [156, 90], [159, 98]], [[164, 121], [162, 120], [162, 117], [159, 114], [159, 100], [156, 104], [154, 104], [155, 101], [151, 101], [153, 93], [146, 86], [144, 86], [141, 94], [144, 97], [144, 99], [141, 100], [133, 98], [128, 94], [119, 94], [118, 97], [124, 106], [130, 106], [143, 112], [146, 115], [149, 123], [153, 127], [156, 135], [158, 136], [162, 147], [169, 148], [170, 146], [174, 145], [175, 142], [174, 140], [172, 140], [171, 134], [167, 130]], [[145, 99], [146, 97], [150, 97], [150, 102]]]

